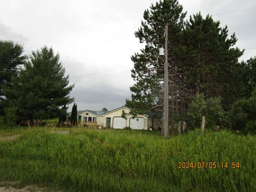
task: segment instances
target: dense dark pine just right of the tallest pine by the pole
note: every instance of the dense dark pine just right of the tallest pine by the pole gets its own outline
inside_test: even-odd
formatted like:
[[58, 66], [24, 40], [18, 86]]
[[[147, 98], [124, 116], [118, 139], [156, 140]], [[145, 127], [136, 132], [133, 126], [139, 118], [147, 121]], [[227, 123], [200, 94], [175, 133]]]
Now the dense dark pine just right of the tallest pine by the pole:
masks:
[[235, 34], [227, 38], [227, 26], [220, 28], [219, 21], [213, 21], [210, 15], [203, 18], [198, 13], [186, 22], [183, 35], [186, 55], [190, 55], [182, 60], [181, 67], [186, 71], [183, 76], [188, 85], [186, 90], [191, 95], [203, 93], [206, 99], [221, 96], [222, 105], [241, 97], [240, 82], [234, 74], [243, 51], [234, 47]]

